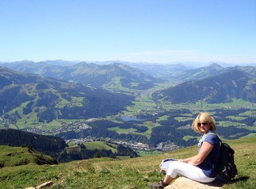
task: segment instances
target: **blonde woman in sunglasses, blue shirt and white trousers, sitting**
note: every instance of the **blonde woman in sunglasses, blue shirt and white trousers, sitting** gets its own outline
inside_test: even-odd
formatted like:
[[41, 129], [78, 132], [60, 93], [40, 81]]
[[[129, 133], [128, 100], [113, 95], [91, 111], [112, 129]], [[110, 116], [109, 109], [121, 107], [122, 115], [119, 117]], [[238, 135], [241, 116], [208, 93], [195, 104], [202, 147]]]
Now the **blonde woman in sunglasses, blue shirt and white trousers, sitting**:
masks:
[[215, 120], [208, 113], [199, 113], [192, 123], [192, 128], [203, 134], [199, 141], [199, 152], [194, 157], [170, 162], [166, 177], [160, 183], [150, 183], [150, 188], [164, 188], [177, 175], [210, 183], [218, 174], [218, 160], [220, 158], [220, 141], [217, 136], [209, 134], [215, 132]]

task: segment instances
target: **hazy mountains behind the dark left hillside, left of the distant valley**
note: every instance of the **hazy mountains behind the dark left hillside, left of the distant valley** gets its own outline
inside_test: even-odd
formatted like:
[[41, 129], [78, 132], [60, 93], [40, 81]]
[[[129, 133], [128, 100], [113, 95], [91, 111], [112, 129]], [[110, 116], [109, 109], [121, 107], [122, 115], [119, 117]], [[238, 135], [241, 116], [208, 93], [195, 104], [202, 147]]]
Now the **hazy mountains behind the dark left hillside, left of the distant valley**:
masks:
[[[60, 63], [62, 64], [62, 62]], [[119, 63], [98, 65], [94, 63], [87, 64], [87, 62], [80, 62], [74, 65], [69, 64], [69, 66], [59, 66], [59, 64], [50, 61], [48, 61], [48, 63], [22, 61], [5, 63], [2, 65], [15, 71], [39, 74], [57, 80], [75, 81], [94, 87], [105, 87], [110, 89], [129, 88], [145, 90], [154, 87], [155, 83], [164, 81], [142, 73], [131, 66]]]

